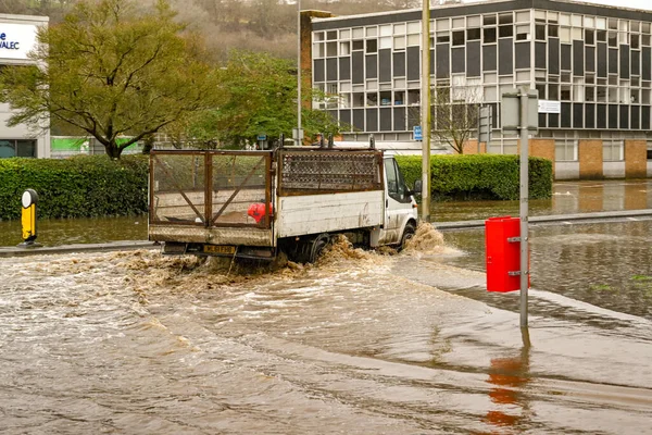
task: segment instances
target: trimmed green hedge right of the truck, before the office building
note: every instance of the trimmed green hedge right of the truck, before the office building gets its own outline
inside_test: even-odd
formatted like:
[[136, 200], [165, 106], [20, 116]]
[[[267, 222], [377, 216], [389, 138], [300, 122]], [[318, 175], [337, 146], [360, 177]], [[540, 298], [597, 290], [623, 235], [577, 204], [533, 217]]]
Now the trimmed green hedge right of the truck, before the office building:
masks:
[[[409, 186], [422, 177], [421, 156], [397, 161]], [[434, 198], [514, 200], [519, 196], [519, 157], [502, 154], [432, 156], [430, 183]], [[529, 198], [552, 196], [552, 162], [529, 158]]]

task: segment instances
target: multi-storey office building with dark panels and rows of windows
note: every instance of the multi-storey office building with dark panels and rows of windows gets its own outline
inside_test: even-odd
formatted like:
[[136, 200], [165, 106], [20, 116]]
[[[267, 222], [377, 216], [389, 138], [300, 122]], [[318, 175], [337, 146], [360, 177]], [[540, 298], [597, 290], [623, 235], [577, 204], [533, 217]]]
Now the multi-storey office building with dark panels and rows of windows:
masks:
[[[349, 125], [344, 140], [412, 141], [421, 124], [422, 11], [302, 14], [304, 76], [333, 96], [315, 108]], [[430, 18], [434, 89], [448, 89], [452, 104], [493, 108], [482, 150], [517, 152], [516, 133], [500, 129], [500, 99], [525, 86], [540, 100], [530, 153], [553, 160], [556, 178], [652, 175], [652, 11], [496, 0], [435, 5]], [[465, 152], [476, 152], [474, 140]]]

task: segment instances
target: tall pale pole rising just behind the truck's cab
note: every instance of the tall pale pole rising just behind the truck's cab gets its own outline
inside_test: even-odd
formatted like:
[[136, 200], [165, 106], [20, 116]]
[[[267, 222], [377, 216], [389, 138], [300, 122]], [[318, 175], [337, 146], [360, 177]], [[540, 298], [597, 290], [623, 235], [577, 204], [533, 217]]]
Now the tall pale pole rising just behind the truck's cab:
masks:
[[430, 0], [422, 15], [422, 220], [430, 222]]

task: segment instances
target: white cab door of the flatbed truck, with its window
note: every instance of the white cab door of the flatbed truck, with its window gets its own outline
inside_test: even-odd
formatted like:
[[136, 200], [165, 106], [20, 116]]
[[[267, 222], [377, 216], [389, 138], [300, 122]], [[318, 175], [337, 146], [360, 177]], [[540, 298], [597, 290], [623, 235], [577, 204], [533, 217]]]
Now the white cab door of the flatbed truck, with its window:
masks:
[[393, 158], [385, 160], [385, 239], [388, 244], [399, 243], [401, 228], [408, 214], [405, 210], [412, 209], [412, 199], [408, 195], [408, 188], [403, 176]]

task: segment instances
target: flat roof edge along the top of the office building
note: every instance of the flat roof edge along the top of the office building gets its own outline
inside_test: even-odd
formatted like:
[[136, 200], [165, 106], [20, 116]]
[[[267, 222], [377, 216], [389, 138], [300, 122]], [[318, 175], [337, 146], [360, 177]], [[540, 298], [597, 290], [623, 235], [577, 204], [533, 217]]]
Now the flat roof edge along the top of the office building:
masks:
[[[539, 9], [555, 12], [606, 16], [610, 18], [652, 22], [652, 11], [569, 0], [489, 0], [473, 3], [442, 4], [430, 8], [430, 18], [436, 20], [450, 16], [475, 15], [481, 13], [506, 12], [524, 9]], [[342, 15], [330, 18], [313, 18], [312, 23], [313, 30], [327, 30], [342, 26], [354, 27], [421, 20], [422, 10], [410, 9], [372, 14]]]

